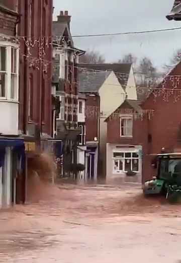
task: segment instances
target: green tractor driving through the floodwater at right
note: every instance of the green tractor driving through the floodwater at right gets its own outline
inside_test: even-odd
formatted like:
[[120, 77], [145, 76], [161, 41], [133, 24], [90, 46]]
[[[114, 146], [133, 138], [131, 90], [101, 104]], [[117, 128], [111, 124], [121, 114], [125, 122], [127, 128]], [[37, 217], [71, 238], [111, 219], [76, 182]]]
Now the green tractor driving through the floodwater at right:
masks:
[[170, 203], [181, 200], [181, 153], [156, 155], [157, 176], [145, 182], [145, 195], [163, 194]]

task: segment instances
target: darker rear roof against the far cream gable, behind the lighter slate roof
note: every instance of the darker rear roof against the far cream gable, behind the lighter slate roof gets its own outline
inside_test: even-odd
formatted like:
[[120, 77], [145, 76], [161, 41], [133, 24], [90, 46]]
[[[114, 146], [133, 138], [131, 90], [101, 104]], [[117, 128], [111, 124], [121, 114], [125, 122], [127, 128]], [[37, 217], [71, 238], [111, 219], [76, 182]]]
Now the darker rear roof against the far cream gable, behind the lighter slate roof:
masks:
[[102, 64], [88, 64], [80, 63], [78, 67], [85, 68], [88, 70], [97, 70], [97, 71], [113, 71], [118, 78], [119, 83], [122, 88], [126, 88], [129, 74], [131, 70], [131, 63], [102, 63]]

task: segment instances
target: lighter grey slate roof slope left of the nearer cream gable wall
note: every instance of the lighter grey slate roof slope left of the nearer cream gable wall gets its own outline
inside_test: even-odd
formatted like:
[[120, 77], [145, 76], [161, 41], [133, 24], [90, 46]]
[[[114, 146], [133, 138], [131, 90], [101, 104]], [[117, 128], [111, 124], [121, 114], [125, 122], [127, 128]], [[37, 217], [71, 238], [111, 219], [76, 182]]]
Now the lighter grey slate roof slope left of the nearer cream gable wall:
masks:
[[78, 91], [98, 92], [111, 72], [82, 72], [78, 74]]

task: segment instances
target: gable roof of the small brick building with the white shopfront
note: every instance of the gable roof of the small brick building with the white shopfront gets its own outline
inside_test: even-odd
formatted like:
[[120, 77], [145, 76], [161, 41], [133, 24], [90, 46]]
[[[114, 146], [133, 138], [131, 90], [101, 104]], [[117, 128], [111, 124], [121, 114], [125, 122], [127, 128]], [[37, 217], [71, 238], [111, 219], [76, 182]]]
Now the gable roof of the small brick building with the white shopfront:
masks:
[[140, 106], [140, 102], [137, 101], [137, 100], [125, 100], [113, 113], [111, 113], [111, 115], [109, 115], [105, 122], [108, 122], [110, 117], [113, 115], [113, 114], [116, 114], [116, 113], [119, 113], [119, 110], [121, 108], [126, 108], [126, 109], [130, 109], [132, 108], [136, 113], [139, 113], [141, 114], [142, 113], [142, 108]]

